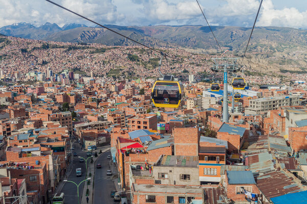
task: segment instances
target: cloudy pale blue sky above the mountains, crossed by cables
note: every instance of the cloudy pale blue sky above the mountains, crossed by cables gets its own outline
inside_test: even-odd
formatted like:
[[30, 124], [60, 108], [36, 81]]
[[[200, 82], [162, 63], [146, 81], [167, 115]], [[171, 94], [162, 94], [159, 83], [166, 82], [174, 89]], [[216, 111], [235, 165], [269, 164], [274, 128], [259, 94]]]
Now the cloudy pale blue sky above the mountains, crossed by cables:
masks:
[[[196, 0], [52, 0], [101, 24], [207, 25]], [[252, 27], [260, 0], [199, 0], [210, 25]], [[0, 0], [0, 27], [18, 22], [94, 26], [43, 0]], [[256, 26], [307, 29], [306, 0], [263, 0]]]

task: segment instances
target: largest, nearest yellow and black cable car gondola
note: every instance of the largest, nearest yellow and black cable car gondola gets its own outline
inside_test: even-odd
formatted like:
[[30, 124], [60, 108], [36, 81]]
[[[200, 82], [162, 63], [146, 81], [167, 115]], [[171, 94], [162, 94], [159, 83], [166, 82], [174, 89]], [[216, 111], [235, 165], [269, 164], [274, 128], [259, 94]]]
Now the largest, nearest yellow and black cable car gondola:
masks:
[[163, 80], [158, 80], [153, 85], [151, 99], [156, 107], [178, 108], [182, 93], [181, 82], [176, 81], [173, 75], [164, 75]]

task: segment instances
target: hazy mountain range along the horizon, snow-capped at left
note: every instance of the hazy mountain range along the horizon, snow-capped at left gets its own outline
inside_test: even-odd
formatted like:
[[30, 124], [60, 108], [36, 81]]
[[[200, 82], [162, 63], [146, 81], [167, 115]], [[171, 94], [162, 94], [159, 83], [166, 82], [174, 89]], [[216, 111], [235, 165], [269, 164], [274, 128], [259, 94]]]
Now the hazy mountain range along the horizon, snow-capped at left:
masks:
[[[202, 25], [105, 26], [149, 46], [215, 49], [215, 52], [218, 48], [209, 27]], [[223, 26], [211, 28], [223, 49], [228, 48], [238, 52], [243, 52], [251, 32], [251, 28]], [[20, 22], [0, 28], [0, 33], [36, 40], [135, 45], [134, 42], [106, 29], [76, 23], [60, 28], [56, 23], [47, 22], [35, 27], [33, 24]], [[280, 27], [256, 27], [250, 45], [254, 52], [264, 50], [283, 52], [293, 46], [307, 46], [307, 31]]]

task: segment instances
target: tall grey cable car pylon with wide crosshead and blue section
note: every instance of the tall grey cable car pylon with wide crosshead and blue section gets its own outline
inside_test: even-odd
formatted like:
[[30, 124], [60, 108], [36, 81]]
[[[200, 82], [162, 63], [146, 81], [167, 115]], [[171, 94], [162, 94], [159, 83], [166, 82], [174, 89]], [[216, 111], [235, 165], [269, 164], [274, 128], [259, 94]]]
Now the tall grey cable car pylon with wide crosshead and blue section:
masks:
[[[236, 72], [239, 71], [240, 67], [236, 63], [238, 58], [212, 58], [213, 66], [211, 70], [214, 72], [224, 71], [224, 92], [223, 100], [228, 101], [228, 81], [227, 73], [228, 71]], [[228, 103], [223, 103], [223, 122], [229, 122], [228, 114]]]

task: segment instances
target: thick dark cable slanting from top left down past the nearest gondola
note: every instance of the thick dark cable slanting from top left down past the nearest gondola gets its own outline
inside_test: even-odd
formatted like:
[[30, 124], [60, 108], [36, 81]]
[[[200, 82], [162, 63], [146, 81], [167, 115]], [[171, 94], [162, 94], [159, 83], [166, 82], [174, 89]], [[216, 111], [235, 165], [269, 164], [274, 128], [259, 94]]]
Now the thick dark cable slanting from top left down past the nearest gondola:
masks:
[[159, 50], [157, 50], [157, 49], [154, 49], [154, 48], [152, 48], [152, 47], [149, 47], [149, 46], [147, 46], [147, 45], [144, 45], [144, 44], [142, 44], [142, 43], [140, 43], [140, 42], [138, 42], [138, 41], [136, 41], [136, 40], [134, 40], [134, 39], [131, 39], [131, 38], [127, 37], [127, 36], [124, 36], [123, 34], [120, 34], [120, 33], [116, 32], [116, 31], [114, 31], [114, 30], [112, 30], [112, 29], [109, 29], [109, 28], [105, 27], [104, 25], [102, 25], [102, 24], [100, 24], [100, 23], [98, 23], [98, 22], [96, 22], [96, 21], [91, 20], [90, 18], [87, 18], [87, 17], [85, 17], [85, 16], [82, 16], [81, 14], [78, 14], [78, 13], [76, 13], [76, 12], [74, 12], [74, 11], [68, 9], [68, 8], [65, 8], [65, 7], [59, 5], [59, 4], [55, 3], [55, 2], [52, 2], [52, 1], [50, 1], [50, 0], [46, 0], [46, 1], [49, 2], [49, 3], [51, 3], [51, 4], [53, 4], [53, 5], [55, 5], [55, 6], [58, 6], [58, 7], [62, 8], [62, 9], [64, 9], [64, 10], [67, 10], [67, 11], [69, 11], [69, 12], [71, 12], [71, 13], [77, 15], [77, 16], [80, 16], [81, 18], [84, 18], [84, 19], [86, 19], [86, 20], [89, 20], [89, 21], [91, 21], [91, 22], [93, 22], [93, 23], [95, 23], [95, 24], [101, 26], [102, 28], [105, 28], [105, 29], [107, 29], [107, 30], [109, 30], [109, 31], [112, 31], [113, 33], [116, 33], [117, 35], [120, 35], [120, 36], [122, 36], [122, 37], [124, 37], [124, 38], [127, 38], [128, 40], [131, 40], [131, 41], [133, 41], [133, 42], [135, 42], [135, 43], [137, 43], [137, 44], [140, 44], [140, 45], [142, 45], [142, 46], [144, 46], [144, 47], [146, 47], [146, 48], [148, 48], [148, 49], [151, 49], [152, 51], [157, 52], [157, 53], [161, 54], [161, 55], [164, 56], [164, 57], [169, 57], [169, 58], [175, 59], [175, 60], [177, 60], [177, 61], [187, 62], [187, 61], [184, 61], [183, 59], [177, 59], [177, 58], [168, 56], [167, 54], [163, 53], [162, 51], [159, 51]]

